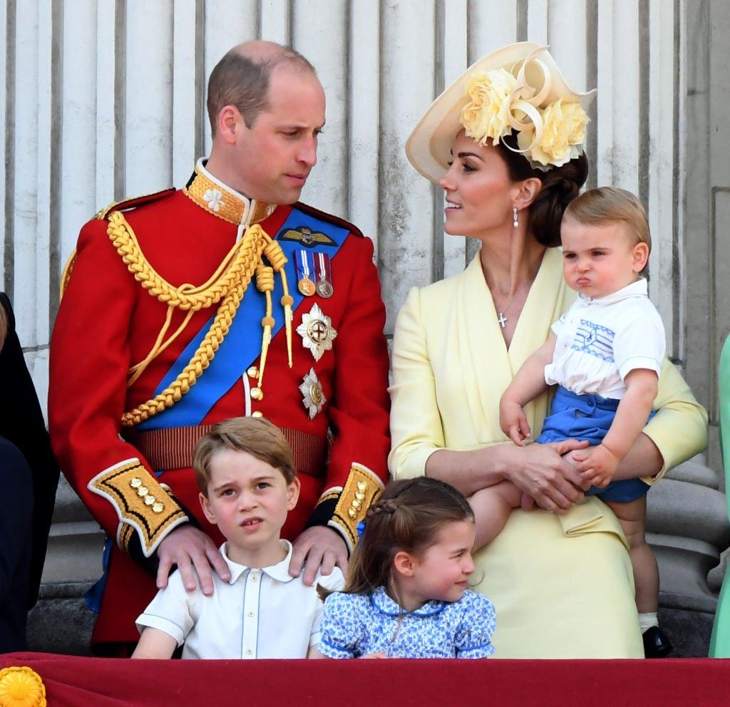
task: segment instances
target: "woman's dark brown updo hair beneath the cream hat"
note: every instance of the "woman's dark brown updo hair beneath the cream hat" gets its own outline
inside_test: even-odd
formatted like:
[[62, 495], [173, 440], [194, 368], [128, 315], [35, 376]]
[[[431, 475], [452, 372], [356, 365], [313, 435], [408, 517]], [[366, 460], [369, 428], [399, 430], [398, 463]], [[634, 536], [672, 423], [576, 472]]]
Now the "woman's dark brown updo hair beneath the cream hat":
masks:
[[542, 182], [542, 188], [529, 207], [529, 230], [539, 244], [547, 247], [560, 245], [560, 223], [565, 209], [578, 196], [588, 178], [588, 159], [585, 152], [560, 167], [541, 171], [533, 169], [523, 155], [512, 152], [502, 142], [516, 148], [517, 138], [514, 132], [494, 144], [507, 165], [510, 179], [513, 182], [522, 182], [524, 179], [537, 177]]

